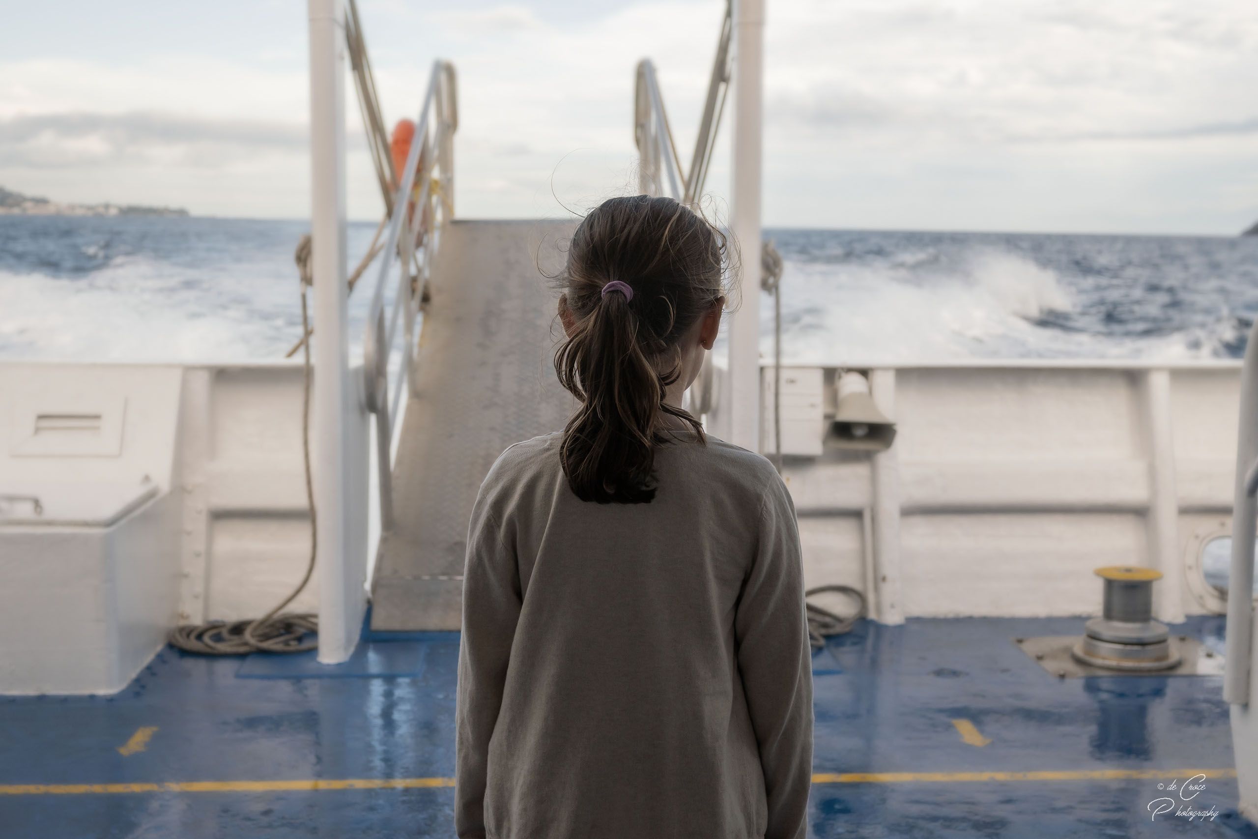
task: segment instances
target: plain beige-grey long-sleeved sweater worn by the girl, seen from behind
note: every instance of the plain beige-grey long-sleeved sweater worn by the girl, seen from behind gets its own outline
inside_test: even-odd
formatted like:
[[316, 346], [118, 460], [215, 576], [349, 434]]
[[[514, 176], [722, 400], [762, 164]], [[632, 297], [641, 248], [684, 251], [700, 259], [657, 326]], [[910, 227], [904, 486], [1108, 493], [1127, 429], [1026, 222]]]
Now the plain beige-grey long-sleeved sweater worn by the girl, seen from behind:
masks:
[[693, 433], [649, 504], [582, 502], [561, 433], [472, 512], [455, 828], [487, 839], [803, 839], [813, 675], [795, 508]]

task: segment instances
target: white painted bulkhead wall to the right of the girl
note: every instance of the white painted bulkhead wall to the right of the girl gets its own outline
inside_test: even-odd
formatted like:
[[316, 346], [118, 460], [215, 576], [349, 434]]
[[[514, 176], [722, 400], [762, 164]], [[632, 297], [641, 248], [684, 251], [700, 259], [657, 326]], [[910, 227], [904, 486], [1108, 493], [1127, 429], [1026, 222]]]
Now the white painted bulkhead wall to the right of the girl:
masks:
[[[1159, 619], [1214, 610], [1198, 557], [1230, 523], [1239, 365], [857, 370], [898, 434], [886, 454], [832, 439], [821, 455], [785, 459], [808, 585], [854, 585], [886, 623], [1087, 615], [1101, 608], [1093, 569], [1132, 564], [1165, 575]], [[784, 431], [828, 426], [839, 370], [793, 372], [820, 372], [824, 416], [796, 404], [788, 419], [784, 405]], [[772, 452], [770, 435], [762, 443]], [[894, 528], [879, 531], [879, 518]]]

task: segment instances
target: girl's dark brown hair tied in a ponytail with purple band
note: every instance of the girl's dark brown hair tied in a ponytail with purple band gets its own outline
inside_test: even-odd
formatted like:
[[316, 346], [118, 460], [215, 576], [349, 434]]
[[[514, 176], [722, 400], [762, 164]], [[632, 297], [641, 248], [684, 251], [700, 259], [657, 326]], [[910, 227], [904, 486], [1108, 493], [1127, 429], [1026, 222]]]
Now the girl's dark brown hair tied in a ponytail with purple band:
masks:
[[[555, 352], [581, 401], [560, 447], [577, 498], [649, 503], [655, 447], [672, 442], [664, 414], [706, 442], [694, 416], [663, 400], [681, 375], [678, 340], [726, 293], [726, 255], [717, 228], [667, 197], [610, 199], [577, 226], [559, 277], [574, 330]], [[613, 281], [632, 294], [604, 294]]]

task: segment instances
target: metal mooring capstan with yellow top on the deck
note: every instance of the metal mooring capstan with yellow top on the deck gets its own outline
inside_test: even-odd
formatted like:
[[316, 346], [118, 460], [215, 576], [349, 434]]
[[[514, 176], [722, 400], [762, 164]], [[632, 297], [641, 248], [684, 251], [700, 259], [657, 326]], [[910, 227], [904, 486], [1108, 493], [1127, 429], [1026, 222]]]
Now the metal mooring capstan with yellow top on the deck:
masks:
[[1165, 670], [1180, 663], [1180, 652], [1166, 624], [1152, 619], [1154, 582], [1160, 571], [1131, 565], [1097, 569], [1105, 580], [1101, 618], [1084, 625], [1071, 649], [1076, 660], [1111, 670]]

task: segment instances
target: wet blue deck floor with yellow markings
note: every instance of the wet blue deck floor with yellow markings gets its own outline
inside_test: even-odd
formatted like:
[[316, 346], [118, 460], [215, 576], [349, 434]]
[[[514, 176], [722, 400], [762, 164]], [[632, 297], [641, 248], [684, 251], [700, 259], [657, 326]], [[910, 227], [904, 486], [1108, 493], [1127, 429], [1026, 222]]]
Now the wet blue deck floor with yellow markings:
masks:
[[[811, 834], [1258, 838], [1234, 810], [1222, 679], [1059, 681], [1011, 640], [1081, 624], [866, 623], [833, 639], [814, 658]], [[1180, 629], [1215, 648], [1222, 630]], [[0, 836], [448, 839], [457, 657], [443, 633], [369, 635], [331, 672], [167, 649], [116, 697], [0, 699]], [[1185, 770], [1206, 771], [1191, 804], [1218, 815], [1152, 818]]]

